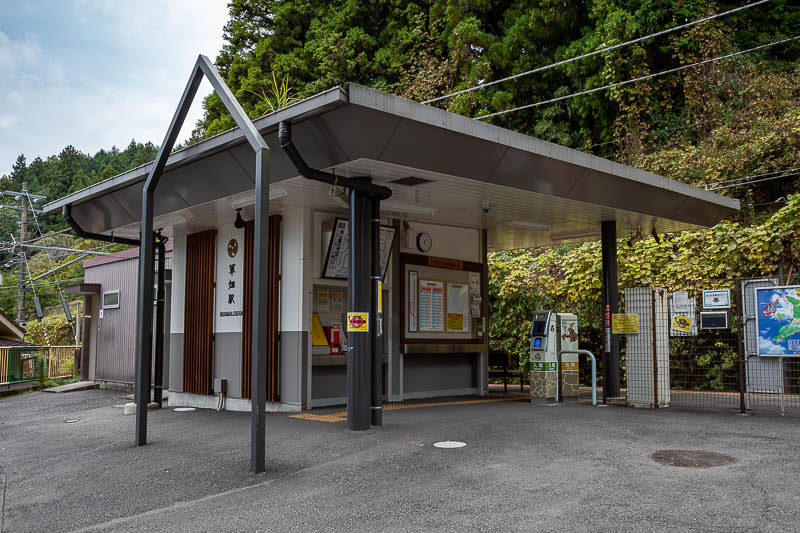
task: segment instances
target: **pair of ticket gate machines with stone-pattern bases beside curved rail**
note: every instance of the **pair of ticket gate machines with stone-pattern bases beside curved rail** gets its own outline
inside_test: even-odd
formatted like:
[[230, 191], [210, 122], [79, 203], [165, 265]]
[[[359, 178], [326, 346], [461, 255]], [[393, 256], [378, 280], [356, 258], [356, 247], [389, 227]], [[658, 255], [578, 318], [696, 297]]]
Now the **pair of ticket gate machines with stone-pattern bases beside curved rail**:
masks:
[[[531, 398], [555, 398], [558, 352], [578, 349], [578, 317], [572, 313], [536, 311], [531, 321]], [[563, 396], [577, 396], [578, 355], [561, 356]]]

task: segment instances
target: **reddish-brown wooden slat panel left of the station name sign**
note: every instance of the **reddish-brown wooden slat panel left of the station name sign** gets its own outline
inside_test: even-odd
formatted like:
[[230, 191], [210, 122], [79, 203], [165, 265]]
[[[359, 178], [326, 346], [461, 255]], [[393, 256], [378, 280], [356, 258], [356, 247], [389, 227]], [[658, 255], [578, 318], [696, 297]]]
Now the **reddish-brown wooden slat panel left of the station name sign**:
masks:
[[214, 263], [217, 231], [186, 236], [183, 391], [211, 394], [214, 373]]

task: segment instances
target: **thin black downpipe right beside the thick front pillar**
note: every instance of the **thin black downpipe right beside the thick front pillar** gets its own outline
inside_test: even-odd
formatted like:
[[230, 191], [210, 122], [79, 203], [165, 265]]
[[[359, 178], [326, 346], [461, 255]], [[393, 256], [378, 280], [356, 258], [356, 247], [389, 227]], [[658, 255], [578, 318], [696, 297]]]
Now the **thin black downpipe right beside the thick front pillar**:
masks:
[[370, 201], [372, 222], [372, 304], [370, 306], [370, 336], [372, 343], [372, 395], [370, 405], [370, 423], [373, 426], [383, 425], [383, 309], [381, 301], [381, 201], [372, 197]]

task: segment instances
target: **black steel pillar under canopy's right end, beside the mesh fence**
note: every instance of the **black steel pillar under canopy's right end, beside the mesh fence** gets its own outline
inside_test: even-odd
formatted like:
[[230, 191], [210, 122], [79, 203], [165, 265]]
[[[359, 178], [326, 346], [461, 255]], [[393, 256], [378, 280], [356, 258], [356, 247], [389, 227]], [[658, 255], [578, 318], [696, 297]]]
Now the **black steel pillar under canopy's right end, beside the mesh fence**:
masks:
[[610, 315], [619, 312], [619, 287], [617, 285], [617, 222], [601, 222], [603, 254], [603, 368], [604, 397], [620, 395], [619, 338], [611, 333]]

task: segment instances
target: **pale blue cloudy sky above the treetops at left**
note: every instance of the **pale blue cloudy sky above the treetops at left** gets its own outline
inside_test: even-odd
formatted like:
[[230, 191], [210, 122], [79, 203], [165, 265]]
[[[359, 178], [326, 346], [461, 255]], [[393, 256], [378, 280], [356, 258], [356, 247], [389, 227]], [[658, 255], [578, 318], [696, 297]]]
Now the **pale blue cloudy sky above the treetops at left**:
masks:
[[[198, 54], [222, 47], [227, 0], [0, 0], [0, 176], [71, 144], [161, 144]], [[207, 81], [181, 130], [202, 116]]]

